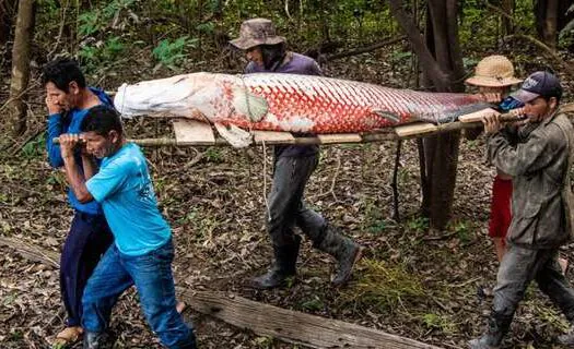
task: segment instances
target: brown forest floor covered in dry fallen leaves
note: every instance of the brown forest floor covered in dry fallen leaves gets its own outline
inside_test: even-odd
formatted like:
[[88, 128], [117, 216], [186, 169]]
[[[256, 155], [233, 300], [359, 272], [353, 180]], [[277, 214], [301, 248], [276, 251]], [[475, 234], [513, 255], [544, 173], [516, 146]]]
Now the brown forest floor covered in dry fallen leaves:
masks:
[[[332, 70], [360, 79], [358, 71], [345, 67]], [[400, 84], [396, 76], [380, 75], [384, 67], [368, 69], [375, 81], [387, 76]], [[43, 125], [40, 101], [38, 92], [31, 101], [37, 113], [31, 130]], [[141, 137], [171, 133], [163, 120], [130, 120], [127, 130]], [[63, 174], [49, 168], [42, 146], [39, 135], [2, 154], [0, 229], [3, 236], [59, 252], [72, 212], [66, 202]], [[418, 215], [415, 141], [403, 143], [398, 169], [400, 221], [390, 218], [396, 144], [323, 148], [319, 168], [307, 186], [307, 203], [366, 246], [352, 282], [340, 290], [329, 285], [332, 258], [308, 242], [300, 255], [296, 282], [265, 292], [246, 286], [270, 263], [263, 193], [271, 182], [272, 164], [271, 152], [266, 151], [263, 156], [261, 147], [145, 149], [161, 209], [174, 231], [178, 286], [234, 292], [444, 348], [465, 348], [468, 339], [481, 333], [491, 299], [477, 290], [494, 285], [497, 267], [487, 237], [494, 170], [484, 161], [483, 137], [461, 142], [454, 217], [445, 231], [430, 230]], [[563, 253], [567, 256], [571, 250], [567, 246]], [[65, 317], [58, 270], [26, 261], [8, 248], [2, 248], [0, 261], [0, 346], [49, 347]], [[295, 348], [190, 310], [185, 315], [194, 322], [202, 348]], [[553, 338], [565, 326], [560, 313], [532, 287], [505, 347], [552, 348]], [[132, 290], [118, 302], [112, 327], [119, 335], [117, 348], [161, 348]]]

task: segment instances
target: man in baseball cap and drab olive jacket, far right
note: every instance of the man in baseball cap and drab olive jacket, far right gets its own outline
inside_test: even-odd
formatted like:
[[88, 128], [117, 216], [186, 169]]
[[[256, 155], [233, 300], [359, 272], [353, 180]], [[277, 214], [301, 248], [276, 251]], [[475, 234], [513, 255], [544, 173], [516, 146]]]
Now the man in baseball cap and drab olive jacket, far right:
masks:
[[[574, 148], [574, 130], [559, 109], [561, 96], [554, 75], [536, 72], [513, 94], [525, 104], [527, 124], [512, 130], [502, 129], [496, 116], [483, 120], [490, 160], [513, 177], [513, 219], [489, 327], [469, 342], [472, 349], [499, 348], [532, 280], [574, 322], [574, 290], [558, 263], [558, 249], [572, 231], [569, 170]], [[559, 340], [574, 345], [574, 332]]]

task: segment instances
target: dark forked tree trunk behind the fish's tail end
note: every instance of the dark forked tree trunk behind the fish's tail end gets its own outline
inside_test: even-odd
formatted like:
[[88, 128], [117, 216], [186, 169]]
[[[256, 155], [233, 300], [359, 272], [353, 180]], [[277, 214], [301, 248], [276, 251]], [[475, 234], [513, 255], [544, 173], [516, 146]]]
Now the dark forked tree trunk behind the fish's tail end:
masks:
[[[437, 92], [464, 92], [464, 65], [458, 40], [456, 0], [430, 0], [425, 37], [414, 24], [400, 0], [389, 0], [393, 15], [411, 40], [423, 74]], [[458, 164], [458, 131], [423, 141], [425, 179], [422, 184], [421, 212], [431, 227], [444, 229], [452, 215]]]

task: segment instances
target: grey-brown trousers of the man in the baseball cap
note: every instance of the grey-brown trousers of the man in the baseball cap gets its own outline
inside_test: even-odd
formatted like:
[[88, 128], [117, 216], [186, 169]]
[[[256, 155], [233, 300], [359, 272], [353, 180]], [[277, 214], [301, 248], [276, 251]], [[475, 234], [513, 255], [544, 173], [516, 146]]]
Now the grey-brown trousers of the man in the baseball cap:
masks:
[[558, 250], [532, 250], [511, 244], [502, 260], [494, 288], [493, 316], [504, 320], [503, 328], [507, 329], [532, 280], [569, 321], [574, 321], [574, 290], [558, 264]]

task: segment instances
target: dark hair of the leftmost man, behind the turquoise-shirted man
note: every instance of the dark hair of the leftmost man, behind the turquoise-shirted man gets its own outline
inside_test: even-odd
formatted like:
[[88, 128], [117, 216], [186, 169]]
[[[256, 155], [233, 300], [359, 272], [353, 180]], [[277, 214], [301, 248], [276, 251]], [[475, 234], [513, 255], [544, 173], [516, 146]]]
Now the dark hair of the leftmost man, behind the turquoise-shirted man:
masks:
[[68, 93], [70, 83], [75, 81], [79, 87], [85, 87], [85, 77], [80, 65], [72, 59], [58, 58], [44, 65], [42, 85], [54, 83], [56, 87]]

